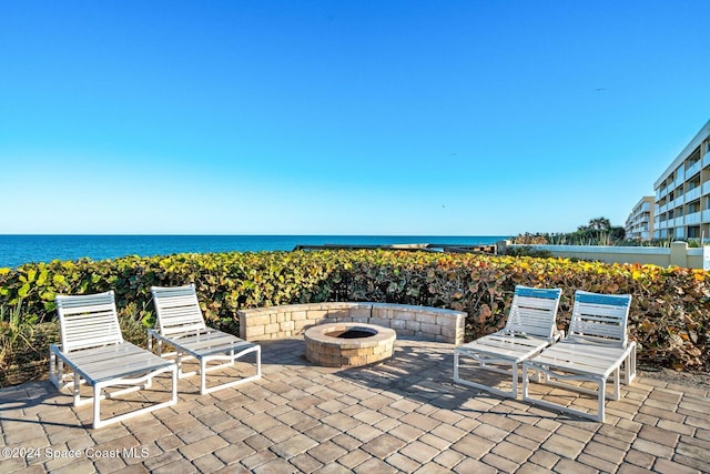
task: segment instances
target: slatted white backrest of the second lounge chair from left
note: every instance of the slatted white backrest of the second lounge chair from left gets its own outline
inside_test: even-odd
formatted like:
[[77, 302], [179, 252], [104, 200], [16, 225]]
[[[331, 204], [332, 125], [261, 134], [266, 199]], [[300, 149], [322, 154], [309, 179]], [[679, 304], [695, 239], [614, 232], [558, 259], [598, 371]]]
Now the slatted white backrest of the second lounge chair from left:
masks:
[[196, 332], [206, 329], [195, 285], [153, 286], [156, 324], [162, 335]]

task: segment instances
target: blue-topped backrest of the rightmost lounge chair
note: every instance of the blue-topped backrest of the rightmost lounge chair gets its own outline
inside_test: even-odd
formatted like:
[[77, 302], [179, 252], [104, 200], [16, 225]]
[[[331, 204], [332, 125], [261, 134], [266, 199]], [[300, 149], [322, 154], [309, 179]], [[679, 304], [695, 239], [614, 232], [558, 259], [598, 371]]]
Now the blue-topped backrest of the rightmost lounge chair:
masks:
[[626, 347], [630, 294], [599, 294], [578, 290], [568, 339]]

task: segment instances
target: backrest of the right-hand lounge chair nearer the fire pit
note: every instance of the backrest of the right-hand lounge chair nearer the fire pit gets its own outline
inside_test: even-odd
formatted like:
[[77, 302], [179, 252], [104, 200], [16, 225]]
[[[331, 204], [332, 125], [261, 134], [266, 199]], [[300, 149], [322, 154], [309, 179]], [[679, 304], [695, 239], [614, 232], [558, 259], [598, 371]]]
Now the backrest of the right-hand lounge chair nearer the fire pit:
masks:
[[505, 331], [551, 339], [561, 295], [560, 289], [516, 286]]

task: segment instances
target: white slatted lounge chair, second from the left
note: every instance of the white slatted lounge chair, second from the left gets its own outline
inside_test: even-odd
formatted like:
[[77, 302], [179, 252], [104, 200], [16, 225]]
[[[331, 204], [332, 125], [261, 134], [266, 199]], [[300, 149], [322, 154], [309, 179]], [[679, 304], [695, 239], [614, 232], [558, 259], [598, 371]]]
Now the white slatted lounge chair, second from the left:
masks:
[[[204, 322], [194, 284], [184, 286], [153, 286], [153, 304], [155, 305], [156, 329], [149, 330], [148, 346], [152, 350], [152, 340], [158, 341], [158, 354], [161, 356], [175, 355], [178, 376], [200, 374], [200, 393], [206, 394], [246, 383], [262, 375], [261, 346], [246, 342], [233, 334], [207, 327]], [[163, 343], [175, 349], [174, 353], [163, 354]], [[256, 373], [251, 376], [217, 384], [206, 385], [206, 372], [233, 365], [237, 359], [250, 353], [255, 354]], [[183, 372], [183, 361], [194, 357], [200, 369]], [[212, 361], [226, 361], [219, 365], [209, 365]]]

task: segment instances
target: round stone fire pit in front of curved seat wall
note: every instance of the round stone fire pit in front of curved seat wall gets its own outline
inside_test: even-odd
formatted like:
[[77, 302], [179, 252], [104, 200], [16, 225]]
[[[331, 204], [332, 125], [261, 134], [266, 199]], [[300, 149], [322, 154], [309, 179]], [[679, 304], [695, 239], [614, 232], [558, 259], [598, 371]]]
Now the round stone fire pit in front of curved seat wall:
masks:
[[392, 357], [397, 334], [389, 327], [364, 323], [329, 323], [304, 333], [306, 359], [327, 367], [354, 367]]

